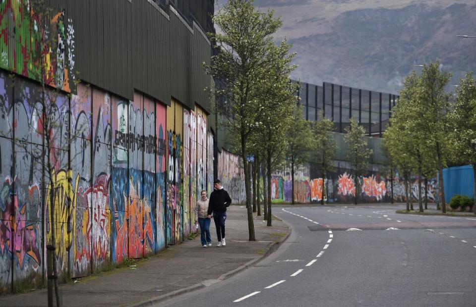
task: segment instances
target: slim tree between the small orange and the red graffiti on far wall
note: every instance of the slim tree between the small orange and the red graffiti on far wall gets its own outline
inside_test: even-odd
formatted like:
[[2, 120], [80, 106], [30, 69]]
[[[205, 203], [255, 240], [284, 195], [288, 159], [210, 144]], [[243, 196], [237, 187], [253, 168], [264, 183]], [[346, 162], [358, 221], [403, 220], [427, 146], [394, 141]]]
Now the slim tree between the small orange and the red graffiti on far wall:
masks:
[[335, 153], [337, 151], [337, 143], [332, 137], [334, 123], [324, 118], [323, 112], [319, 114], [319, 121], [314, 124], [314, 151], [315, 163], [317, 170], [322, 175], [322, 199], [321, 205], [324, 205], [324, 187], [327, 173], [333, 171], [332, 165]]

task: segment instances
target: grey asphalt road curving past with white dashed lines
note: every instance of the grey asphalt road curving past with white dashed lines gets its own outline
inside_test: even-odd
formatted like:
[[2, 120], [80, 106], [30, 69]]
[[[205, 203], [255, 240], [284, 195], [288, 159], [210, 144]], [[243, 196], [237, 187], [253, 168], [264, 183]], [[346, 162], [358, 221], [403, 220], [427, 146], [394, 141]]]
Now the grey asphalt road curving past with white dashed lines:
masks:
[[159, 306], [476, 306], [476, 217], [397, 208], [277, 207], [276, 253]]

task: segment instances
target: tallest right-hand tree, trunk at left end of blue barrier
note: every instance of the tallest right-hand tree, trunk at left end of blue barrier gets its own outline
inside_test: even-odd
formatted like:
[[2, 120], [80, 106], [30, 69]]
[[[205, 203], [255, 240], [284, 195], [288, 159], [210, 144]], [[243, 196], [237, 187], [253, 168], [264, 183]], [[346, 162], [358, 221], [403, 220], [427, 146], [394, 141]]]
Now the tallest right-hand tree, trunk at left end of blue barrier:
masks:
[[443, 168], [449, 159], [449, 97], [445, 87], [451, 73], [440, 70], [440, 62], [425, 64], [419, 78], [416, 129], [423, 136], [424, 147], [433, 153], [440, 178], [442, 212], [446, 213]]

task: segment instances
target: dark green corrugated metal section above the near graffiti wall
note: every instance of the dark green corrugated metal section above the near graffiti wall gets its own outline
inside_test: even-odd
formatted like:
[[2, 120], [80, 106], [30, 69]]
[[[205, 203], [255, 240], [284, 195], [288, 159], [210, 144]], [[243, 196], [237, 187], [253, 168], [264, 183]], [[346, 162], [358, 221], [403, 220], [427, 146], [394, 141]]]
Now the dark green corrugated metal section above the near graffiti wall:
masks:
[[[204, 4], [205, 5], [205, 1]], [[74, 27], [78, 78], [132, 100], [138, 90], [170, 105], [175, 98], [190, 109], [210, 113], [210, 42], [195, 23], [152, 0], [48, 0], [64, 8]], [[204, 16], [200, 16], [203, 22]]]

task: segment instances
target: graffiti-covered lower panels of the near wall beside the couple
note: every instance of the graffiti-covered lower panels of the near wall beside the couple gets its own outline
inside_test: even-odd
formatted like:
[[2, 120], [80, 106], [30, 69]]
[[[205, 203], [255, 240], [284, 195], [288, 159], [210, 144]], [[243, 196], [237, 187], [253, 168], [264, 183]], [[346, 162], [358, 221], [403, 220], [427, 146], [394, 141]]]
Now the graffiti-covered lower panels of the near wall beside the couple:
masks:
[[12, 82], [0, 71], [0, 293], [43, 282], [53, 232], [60, 276], [74, 278], [196, 231], [191, 189], [199, 159], [201, 186], [213, 159], [203, 112], [197, 124], [179, 102], [167, 107], [139, 92], [127, 101], [80, 83], [70, 97], [47, 90], [55, 123], [47, 132], [41, 87]]

